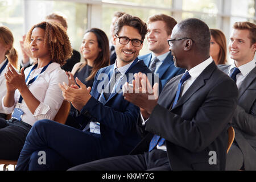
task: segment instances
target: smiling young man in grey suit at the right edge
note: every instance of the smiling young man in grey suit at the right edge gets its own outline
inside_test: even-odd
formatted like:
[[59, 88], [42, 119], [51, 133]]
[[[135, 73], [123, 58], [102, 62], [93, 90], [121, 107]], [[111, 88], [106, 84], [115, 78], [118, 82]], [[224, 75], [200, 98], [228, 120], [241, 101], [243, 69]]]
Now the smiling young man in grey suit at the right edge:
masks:
[[232, 119], [235, 139], [227, 154], [227, 170], [256, 170], [256, 26], [236, 22], [229, 42], [232, 65], [218, 68], [236, 81], [239, 95]]

